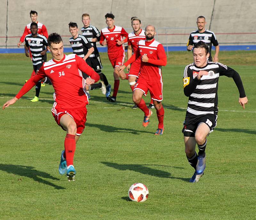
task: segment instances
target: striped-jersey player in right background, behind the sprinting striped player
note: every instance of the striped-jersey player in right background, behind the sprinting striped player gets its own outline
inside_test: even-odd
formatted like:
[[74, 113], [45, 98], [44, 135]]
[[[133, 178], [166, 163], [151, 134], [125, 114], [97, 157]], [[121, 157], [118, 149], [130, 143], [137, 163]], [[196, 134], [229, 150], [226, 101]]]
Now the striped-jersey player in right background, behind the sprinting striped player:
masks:
[[204, 16], [199, 16], [196, 20], [196, 24], [197, 24], [198, 30], [190, 33], [188, 43], [187, 43], [187, 50], [191, 51], [193, 48], [193, 44], [195, 45], [199, 41], [203, 41], [209, 47], [210, 56], [208, 60], [212, 61], [211, 51], [212, 51], [212, 44], [213, 44], [213, 46], [215, 46], [215, 55], [213, 57], [213, 62], [219, 62], [218, 55], [220, 51], [220, 46], [217, 41], [216, 35], [212, 31], [206, 30], [204, 28], [206, 24]]

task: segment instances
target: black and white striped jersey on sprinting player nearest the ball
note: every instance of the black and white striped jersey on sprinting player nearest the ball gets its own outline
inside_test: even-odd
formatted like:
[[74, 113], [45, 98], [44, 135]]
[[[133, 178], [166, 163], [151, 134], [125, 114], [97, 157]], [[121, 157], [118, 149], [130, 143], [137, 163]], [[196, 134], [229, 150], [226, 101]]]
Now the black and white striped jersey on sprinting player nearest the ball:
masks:
[[[196, 78], [200, 70], [205, 70], [208, 75], [203, 75], [200, 80]], [[221, 63], [207, 61], [205, 67], [196, 67], [195, 63], [189, 64], [183, 75], [184, 94], [188, 96], [187, 113], [194, 115], [218, 114], [218, 82], [219, 77], [225, 75], [232, 77], [239, 90], [240, 98], [245, 97], [245, 91], [239, 74], [232, 68]]]

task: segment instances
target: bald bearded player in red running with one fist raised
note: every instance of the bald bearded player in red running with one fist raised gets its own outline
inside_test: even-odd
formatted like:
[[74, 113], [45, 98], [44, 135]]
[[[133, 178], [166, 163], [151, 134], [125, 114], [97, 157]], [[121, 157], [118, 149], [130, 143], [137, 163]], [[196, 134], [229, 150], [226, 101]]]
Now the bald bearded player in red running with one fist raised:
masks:
[[145, 28], [146, 40], [139, 41], [136, 53], [134, 53], [124, 65], [118, 67], [118, 71], [122, 71], [136, 59], [141, 59], [140, 75], [137, 83], [134, 85], [132, 99], [144, 112], [145, 116], [142, 125], [147, 127], [152, 111], [147, 108], [142, 96], [146, 96], [146, 93], [149, 90], [152, 95], [159, 122], [155, 135], [162, 135], [164, 132], [164, 108], [162, 106], [163, 80], [161, 69], [162, 66], [166, 66], [167, 58], [163, 45], [154, 39], [155, 34], [155, 27], [148, 25]]

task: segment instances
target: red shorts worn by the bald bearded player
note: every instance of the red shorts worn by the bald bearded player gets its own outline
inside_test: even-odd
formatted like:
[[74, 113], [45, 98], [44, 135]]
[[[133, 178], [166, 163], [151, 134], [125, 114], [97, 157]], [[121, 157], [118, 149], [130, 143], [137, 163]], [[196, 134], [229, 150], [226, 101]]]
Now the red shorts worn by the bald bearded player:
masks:
[[148, 83], [146, 80], [139, 78], [137, 83], [134, 85], [134, 90], [137, 89], [143, 91], [144, 96], [147, 96], [147, 92], [149, 90], [153, 100], [159, 102], [163, 100], [163, 83]]

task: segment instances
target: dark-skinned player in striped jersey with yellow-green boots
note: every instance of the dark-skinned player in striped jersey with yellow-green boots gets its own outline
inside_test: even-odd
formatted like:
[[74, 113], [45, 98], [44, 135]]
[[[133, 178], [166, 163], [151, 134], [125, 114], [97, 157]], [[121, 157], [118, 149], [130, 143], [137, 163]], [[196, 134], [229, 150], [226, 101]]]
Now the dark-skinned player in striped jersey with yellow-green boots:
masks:
[[[32, 54], [32, 63], [35, 73], [39, 71], [43, 63], [47, 61], [46, 52], [47, 52], [47, 39], [45, 36], [37, 33], [38, 27], [37, 23], [32, 22], [30, 25], [31, 34], [26, 35], [25, 37], [25, 54], [27, 57], [30, 57], [29, 50]], [[51, 83], [50, 83], [51, 84]], [[39, 93], [41, 89], [41, 81], [36, 84], [36, 96], [31, 99], [31, 102], [37, 102], [39, 100]]]

